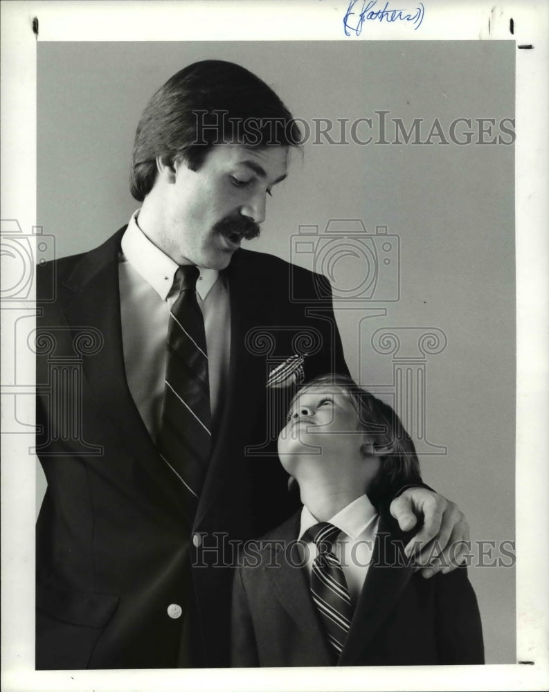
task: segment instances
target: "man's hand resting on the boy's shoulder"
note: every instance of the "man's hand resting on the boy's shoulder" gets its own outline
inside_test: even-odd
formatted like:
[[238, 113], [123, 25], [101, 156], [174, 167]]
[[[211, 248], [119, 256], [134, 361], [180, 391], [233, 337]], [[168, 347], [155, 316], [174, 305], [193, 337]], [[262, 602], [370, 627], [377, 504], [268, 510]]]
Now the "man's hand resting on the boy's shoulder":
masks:
[[469, 524], [457, 504], [435, 491], [413, 486], [402, 491], [390, 504], [390, 513], [402, 531], [411, 531], [418, 518], [422, 526], [406, 545], [406, 555], [425, 579], [456, 569], [470, 550]]

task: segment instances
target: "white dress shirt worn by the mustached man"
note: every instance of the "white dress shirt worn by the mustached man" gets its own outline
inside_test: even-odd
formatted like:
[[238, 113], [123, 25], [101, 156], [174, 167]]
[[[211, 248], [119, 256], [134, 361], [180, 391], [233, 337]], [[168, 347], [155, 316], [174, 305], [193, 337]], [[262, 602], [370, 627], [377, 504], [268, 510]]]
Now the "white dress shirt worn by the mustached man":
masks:
[[[157, 248], [132, 215], [122, 237], [118, 264], [124, 363], [129, 391], [156, 441], [162, 418], [166, 342], [179, 267]], [[213, 429], [221, 415], [231, 348], [231, 304], [224, 275], [199, 267], [197, 300], [204, 316]]]

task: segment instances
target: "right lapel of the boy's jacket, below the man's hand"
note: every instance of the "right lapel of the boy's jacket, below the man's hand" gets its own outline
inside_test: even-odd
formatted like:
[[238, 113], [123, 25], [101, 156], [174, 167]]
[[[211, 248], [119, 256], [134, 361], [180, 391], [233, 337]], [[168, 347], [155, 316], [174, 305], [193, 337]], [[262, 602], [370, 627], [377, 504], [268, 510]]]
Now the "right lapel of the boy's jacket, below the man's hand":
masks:
[[381, 514], [372, 562], [338, 665], [365, 664], [364, 652], [368, 644], [395, 607], [413, 574], [402, 556], [402, 547], [409, 539], [393, 518]]

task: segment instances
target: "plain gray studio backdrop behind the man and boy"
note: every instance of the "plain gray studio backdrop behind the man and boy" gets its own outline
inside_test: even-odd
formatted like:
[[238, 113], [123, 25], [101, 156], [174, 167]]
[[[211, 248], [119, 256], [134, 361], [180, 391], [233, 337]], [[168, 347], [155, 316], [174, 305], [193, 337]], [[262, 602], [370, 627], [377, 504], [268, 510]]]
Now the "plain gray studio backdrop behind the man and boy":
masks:
[[[57, 256], [127, 222], [138, 207], [127, 178], [141, 111], [172, 73], [206, 58], [260, 75], [312, 129], [248, 246], [330, 275], [352, 374], [397, 407], [426, 482], [485, 542], [469, 574], [487, 662], [515, 662], [503, 543], [514, 540], [514, 147], [498, 143], [511, 138], [500, 122], [514, 117], [514, 44], [40, 42], [37, 223], [55, 235]], [[347, 131], [334, 127], [330, 140], [315, 118], [346, 119]], [[442, 136], [395, 143], [398, 118], [407, 131], [423, 119], [420, 141], [438, 118]], [[469, 145], [451, 141], [457, 118], [472, 120]], [[495, 127], [479, 134], [475, 118]], [[461, 122], [454, 138], [466, 141], [467, 129]], [[38, 485], [40, 502], [42, 474]]]

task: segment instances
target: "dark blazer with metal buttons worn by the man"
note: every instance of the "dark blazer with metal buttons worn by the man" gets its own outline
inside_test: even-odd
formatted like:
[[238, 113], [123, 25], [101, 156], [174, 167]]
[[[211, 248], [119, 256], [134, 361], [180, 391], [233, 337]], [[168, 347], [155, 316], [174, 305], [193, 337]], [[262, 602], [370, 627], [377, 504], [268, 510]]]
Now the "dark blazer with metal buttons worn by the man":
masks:
[[[270, 419], [278, 431], [287, 405], [266, 390], [269, 367], [308, 352], [306, 379], [347, 372], [330, 286], [270, 255], [233, 256], [226, 406], [190, 526], [181, 483], [127, 386], [124, 230], [39, 267], [37, 453], [48, 489], [37, 522], [37, 668], [224, 666], [233, 570], [219, 566], [231, 563], [222, 542], [259, 536], [296, 507], [266, 430]], [[170, 604], [181, 617], [168, 616]]]

